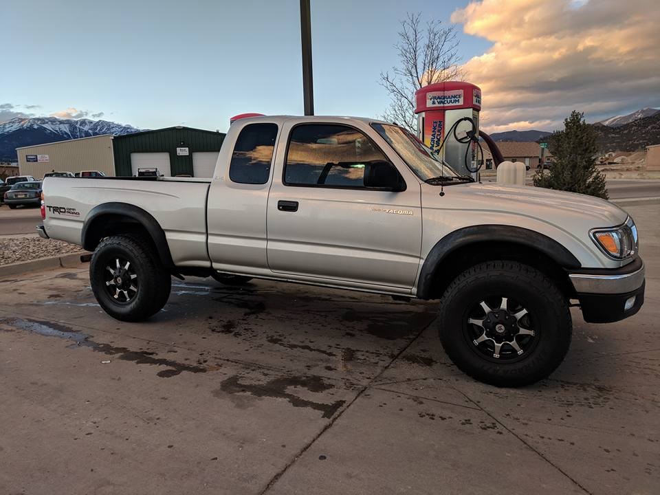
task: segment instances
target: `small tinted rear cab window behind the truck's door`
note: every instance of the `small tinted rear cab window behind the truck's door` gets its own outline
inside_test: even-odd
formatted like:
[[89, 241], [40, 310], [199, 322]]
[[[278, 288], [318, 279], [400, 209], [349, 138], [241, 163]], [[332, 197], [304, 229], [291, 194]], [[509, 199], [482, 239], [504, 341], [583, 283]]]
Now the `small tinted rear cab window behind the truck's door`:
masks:
[[248, 124], [234, 146], [229, 178], [240, 184], [265, 184], [273, 159], [276, 124]]

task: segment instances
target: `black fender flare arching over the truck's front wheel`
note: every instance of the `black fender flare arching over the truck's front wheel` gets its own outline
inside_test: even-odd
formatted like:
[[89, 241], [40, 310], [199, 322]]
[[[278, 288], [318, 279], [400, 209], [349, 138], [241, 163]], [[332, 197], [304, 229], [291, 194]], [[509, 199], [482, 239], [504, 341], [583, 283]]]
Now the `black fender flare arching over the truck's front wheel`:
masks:
[[540, 232], [514, 225], [471, 225], [454, 230], [433, 246], [419, 272], [417, 297], [429, 298], [437, 270], [446, 256], [467, 245], [487, 242], [507, 242], [532, 248], [564, 268], [574, 269], [582, 266], [573, 253]]

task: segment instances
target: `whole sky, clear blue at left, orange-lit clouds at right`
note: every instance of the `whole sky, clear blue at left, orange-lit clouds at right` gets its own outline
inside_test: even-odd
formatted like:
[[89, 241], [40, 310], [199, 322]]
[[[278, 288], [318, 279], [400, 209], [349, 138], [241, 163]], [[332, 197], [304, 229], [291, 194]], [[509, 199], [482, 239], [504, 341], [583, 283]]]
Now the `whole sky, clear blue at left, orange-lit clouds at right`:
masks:
[[[378, 117], [406, 12], [456, 25], [486, 131], [660, 107], [658, 0], [311, 0], [318, 115]], [[102, 118], [225, 131], [303, 113], [299, 0], [2, 0], [0, 122]]]

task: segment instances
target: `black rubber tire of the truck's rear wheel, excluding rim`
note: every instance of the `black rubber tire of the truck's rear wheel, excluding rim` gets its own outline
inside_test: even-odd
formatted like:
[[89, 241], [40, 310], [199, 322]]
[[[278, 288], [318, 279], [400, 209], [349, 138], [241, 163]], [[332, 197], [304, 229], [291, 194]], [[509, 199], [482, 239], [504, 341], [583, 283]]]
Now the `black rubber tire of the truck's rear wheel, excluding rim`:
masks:
[[[136, 275], [137, 292], [130, 301], [120, 303], [107, 289], [108, 267], [115, 259], [130, 262]], [[156, 314], [170, 296], [172, 279], [162, 266], [158, 254], [139, 236], [118, 235], [103, 239], [89, 263], [89, 280], [94, 296], [102, 309], [117, 320], [138, 322]]]

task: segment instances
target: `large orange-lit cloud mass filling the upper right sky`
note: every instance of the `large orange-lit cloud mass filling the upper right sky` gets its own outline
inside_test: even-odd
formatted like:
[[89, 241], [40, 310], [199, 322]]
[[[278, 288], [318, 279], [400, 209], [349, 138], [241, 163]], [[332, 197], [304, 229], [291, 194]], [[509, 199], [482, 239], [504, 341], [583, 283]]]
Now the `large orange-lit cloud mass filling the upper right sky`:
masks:
[[660, 106], [654, 0], [483, 0], [452, 22], [493, 43], [463, 66], [481, 87], [486, 131], [557, 129]]

